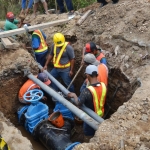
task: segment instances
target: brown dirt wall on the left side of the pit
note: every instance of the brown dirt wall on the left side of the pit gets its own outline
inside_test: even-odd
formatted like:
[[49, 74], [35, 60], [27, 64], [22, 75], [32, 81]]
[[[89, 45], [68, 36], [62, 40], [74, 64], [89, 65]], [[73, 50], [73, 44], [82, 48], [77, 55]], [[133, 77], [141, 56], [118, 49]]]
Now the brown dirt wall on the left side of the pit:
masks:
[[17, 124], [18, 92], [27, 80], [24, 70], [38, 72], [33, 57], [26, 50], [4, 50], [0, 52], [0, 111]]

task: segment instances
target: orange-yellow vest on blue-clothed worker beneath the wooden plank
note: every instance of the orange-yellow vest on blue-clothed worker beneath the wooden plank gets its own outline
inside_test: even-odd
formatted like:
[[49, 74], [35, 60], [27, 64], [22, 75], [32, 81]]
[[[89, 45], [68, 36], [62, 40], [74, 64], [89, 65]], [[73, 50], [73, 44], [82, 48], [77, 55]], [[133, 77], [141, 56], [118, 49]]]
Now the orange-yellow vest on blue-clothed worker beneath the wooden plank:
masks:
[[45, 50], [48, 49], [48, 46], [46, 44], [46, 41], [42, 35], [42, 32], [40, 30], [35, 30], [33, 32], [33, 35], [37, 35], [39, 38], [40, 38], [40, 46], [38, 47], [37, 50], [34, 50], [36, 53], [41, 53], [41, 52], [44, 52]]

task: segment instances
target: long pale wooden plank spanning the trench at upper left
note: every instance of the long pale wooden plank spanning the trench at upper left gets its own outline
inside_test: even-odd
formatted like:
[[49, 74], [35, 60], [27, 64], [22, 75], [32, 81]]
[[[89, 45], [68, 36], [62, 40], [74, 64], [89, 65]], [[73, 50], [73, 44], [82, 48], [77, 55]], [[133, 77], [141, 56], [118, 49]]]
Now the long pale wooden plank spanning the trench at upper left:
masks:
[[[52, 21], [52, 22], [47, 22], [47, 23], [29, 26], [28, 29], [29, 29], [29, 31], [34, 31], [36, 29], [44, 29], [47, 27], [64, 24], [64, 23], [67, 23], [68, 21], [69, 21], [69, 19], [61, 19], [61, 20], [57, 20], [57, 21]], [[26, 30], [24, 28], [0, 32], [0, 38], [12, 36], [12, 35], [17, 35], [17, 34], [22, 34], [22, 33], [26, 33]]]

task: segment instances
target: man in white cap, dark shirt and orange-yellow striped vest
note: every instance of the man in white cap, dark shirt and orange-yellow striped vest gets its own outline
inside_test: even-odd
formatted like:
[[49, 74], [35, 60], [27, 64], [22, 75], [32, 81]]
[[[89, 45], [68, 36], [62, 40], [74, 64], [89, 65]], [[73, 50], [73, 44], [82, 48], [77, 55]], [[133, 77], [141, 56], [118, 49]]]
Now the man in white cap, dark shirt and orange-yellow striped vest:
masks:
[[[68, 93], [69, 98], [74, 98], [77, 106], [85, 105], [93, 110], [100, 117], [104, 115], [104, 104], [106, 98], [106, 86], [103, 82], [97, 80], [98, 68], [95, 65], [88, 65], [85, 70], [87, 79], [90, 82], [90, 86], [85, 88], [79, 98], [75, 93]], [[84, 122], [83, 124], [84, 135], [91, 138], [94, 135], [95, 130]]]

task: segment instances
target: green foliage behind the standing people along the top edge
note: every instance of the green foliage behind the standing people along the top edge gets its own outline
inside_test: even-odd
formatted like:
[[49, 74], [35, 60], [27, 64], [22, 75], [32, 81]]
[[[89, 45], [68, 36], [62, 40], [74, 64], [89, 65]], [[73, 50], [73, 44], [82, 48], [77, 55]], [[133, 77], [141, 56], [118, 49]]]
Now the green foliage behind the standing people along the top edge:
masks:
[[[48, 9], [55, 8], [55, 0], [46, 1], [48, 3]], [[86, 7], [95, 1], [96, 0], [72, 0], [75, 10]], [[4, 20], [6, 13], [9, 11], [12, 11], [15, 15], [18, 15], [21, 11], [21, 0], [0, 0], [0, 10], [0, 20]], [[43, 7], [40, 7], [40, 11], [43, 12]]]

